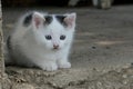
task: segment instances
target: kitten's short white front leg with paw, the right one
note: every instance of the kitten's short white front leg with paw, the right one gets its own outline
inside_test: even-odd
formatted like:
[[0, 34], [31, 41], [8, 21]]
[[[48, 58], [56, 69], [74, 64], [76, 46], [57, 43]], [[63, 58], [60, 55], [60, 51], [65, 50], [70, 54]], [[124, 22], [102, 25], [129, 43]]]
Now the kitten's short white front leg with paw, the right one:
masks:
[[58, 60], [58, 67], [59, 68], [71, 68], [71, 63], [68, 61], [66, 57], [63, 57], [62, 59]]

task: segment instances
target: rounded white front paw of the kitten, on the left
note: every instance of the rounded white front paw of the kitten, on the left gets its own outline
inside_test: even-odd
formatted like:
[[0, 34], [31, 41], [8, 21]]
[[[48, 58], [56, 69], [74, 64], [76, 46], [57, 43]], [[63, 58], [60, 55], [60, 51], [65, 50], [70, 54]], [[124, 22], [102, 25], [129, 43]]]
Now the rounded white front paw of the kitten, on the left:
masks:
[[44, 63], [41, 68], [47, 71], [54, 71], [58, 69], [58, 66], [55, 63]]

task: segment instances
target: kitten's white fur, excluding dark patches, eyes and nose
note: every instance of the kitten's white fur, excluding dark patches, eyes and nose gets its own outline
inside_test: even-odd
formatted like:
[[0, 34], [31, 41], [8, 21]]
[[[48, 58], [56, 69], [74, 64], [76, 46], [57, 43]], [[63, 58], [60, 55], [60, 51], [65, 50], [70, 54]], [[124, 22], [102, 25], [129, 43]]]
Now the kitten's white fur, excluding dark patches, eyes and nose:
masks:
[[[42, 18], [47, 13], [34, 12], [33, 17]], [[22, 22], [27, 14], [24, 14], [16, 26], [16, 30], [11, 36], [11, 55], [14, 59], [8, 61], [16, 62], [20, 66], [27, 67], [40, 67], [43, 70], [52, 71], [58, 68], [71, 68], [69, 62], [69, 53], [71, 43], [73, 40], [73, 33], [75, 29], [75, 13], [68, 13], [64, 16], [73, 17], [72, 27], [63, 27], [57, 19], [55, 14], [53, 21], [49, 26], [44, 26], [42, 22], [39, 28], [34, 26], [34, 21], [29, 27], [23, 27]], [[44, 38], [45, 34], [52, 34], [52, 41]], [[65, 34], [65, 40], [60, 40], [60, 34]], [[59, 44], [59, 49], [53, 49], [53, 43]]]

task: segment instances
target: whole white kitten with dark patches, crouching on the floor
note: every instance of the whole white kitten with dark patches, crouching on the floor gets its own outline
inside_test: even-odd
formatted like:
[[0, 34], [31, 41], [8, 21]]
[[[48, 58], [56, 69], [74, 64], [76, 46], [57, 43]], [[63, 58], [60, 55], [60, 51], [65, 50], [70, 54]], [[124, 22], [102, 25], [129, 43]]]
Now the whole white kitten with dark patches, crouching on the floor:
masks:
[[48, 14], [30, 12], [17, 23], [7, 40], [10, 59], [6, 63], [40, 67], [52, 71], [71, 68], [68, 60], [76, 13]]

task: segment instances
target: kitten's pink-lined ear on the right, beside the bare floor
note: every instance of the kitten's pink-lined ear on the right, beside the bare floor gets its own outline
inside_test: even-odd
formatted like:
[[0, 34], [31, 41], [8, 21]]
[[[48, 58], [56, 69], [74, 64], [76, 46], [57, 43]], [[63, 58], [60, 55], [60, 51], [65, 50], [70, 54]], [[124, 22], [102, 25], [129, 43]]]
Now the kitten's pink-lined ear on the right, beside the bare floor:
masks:
[[75, 19], [76, 19], [76, 13], [73, 12], [73, 13], [66, 14], [66, 17], [64, 18], [64, 22], [69, 28], [72, 28], [72, 27], [75, 27]]

